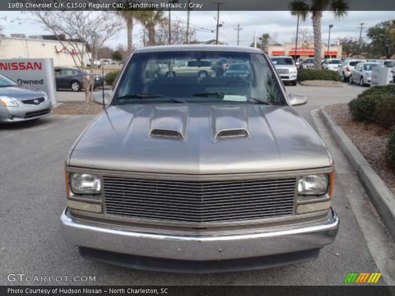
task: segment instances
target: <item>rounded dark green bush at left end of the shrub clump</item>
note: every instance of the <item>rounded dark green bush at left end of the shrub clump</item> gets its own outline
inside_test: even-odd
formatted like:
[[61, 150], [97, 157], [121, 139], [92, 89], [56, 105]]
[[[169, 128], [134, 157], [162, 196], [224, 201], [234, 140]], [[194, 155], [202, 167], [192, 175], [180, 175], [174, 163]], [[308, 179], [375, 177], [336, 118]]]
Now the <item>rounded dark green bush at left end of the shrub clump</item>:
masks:
[[353, 119], [373, 122], [376, 115], [378, 100], [380, 100], [379, 96], [368, 95], [350, 101], [349, 109]]

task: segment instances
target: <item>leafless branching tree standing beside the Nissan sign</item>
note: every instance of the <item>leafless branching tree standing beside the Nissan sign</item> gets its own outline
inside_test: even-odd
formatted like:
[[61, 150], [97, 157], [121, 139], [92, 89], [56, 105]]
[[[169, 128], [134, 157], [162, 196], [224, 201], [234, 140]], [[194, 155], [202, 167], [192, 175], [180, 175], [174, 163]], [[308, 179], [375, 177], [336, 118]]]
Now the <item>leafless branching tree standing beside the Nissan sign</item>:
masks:
[[121, 20], [110, 11], [32, 11], [34, 19], [54, 34], [72, 54], [76, 67], [90, 75], [83, 79], [85, 101], [92, 101], [93, 68], [97, 52], [103, 44], [118, 34]]

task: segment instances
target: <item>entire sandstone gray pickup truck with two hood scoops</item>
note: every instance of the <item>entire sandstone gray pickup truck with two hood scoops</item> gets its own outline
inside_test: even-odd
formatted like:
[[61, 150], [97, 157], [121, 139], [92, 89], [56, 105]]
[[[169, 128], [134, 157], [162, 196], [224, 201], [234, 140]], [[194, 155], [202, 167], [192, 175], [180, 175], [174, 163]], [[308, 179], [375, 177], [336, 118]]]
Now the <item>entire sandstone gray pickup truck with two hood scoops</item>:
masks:
[[[172, 71], [222, 59], [250, 71]], [[136, 50], [67, 155], [66, 240], [85, 258], [148, 270], [315, 259], [334, 241], [339, 218], [332, 156], [291, 107], [306, 102], [285, 93], [256, 48]]]

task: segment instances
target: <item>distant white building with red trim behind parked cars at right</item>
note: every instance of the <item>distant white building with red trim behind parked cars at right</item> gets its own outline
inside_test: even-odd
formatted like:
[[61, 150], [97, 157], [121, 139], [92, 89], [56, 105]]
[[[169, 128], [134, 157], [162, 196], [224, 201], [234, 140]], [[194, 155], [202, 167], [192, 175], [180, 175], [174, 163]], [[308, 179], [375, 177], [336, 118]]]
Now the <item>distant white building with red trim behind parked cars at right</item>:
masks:
[[[298, 42], [295, 48], [295, 42], [285, 42], [284, 44], [269, 45], [268, 53], [270, 56], [276, 55], [289, 55], [296, 58], [308, 58], [314, 57], [314, 42], [313, 41], [301, 41]], [[341, 58], [342, 57], [342, 45], [321, 43], [321, 58]]]

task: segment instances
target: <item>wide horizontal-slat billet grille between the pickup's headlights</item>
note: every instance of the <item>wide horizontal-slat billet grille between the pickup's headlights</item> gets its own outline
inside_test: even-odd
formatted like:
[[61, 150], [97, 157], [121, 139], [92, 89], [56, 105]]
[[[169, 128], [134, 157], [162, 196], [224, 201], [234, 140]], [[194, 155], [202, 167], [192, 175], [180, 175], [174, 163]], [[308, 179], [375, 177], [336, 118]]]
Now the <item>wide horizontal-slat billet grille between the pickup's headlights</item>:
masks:
[[230, 222], [293, 214], [295, 178], [165, 181], [104, 177], [107, 215], [173, 222]]

